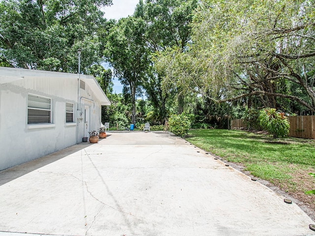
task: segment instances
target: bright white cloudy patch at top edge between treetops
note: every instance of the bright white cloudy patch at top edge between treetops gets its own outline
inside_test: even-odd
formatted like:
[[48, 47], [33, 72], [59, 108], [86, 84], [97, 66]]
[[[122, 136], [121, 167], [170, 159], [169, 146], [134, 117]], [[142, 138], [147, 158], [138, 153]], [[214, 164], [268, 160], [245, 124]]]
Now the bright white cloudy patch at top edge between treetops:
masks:
[[139, 0], [113, 0], [113, 5], [103, 7], [105, 18], [119, 20], [120, 18], [131, 16]]

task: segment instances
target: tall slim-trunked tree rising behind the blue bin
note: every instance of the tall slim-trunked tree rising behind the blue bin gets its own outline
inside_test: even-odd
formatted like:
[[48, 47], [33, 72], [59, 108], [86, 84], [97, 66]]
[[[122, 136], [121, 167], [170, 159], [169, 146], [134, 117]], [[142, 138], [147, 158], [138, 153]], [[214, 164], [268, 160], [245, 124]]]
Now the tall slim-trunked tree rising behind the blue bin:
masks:
[[132, 110], [131, 122], [136, 123], [137, 93], [150, 64], [145, 40], [146, 25], [140, 18], [122, 18], [109, 33], [104, 32], [104, 56], [114, 68], [114, 74], [129, 94]]

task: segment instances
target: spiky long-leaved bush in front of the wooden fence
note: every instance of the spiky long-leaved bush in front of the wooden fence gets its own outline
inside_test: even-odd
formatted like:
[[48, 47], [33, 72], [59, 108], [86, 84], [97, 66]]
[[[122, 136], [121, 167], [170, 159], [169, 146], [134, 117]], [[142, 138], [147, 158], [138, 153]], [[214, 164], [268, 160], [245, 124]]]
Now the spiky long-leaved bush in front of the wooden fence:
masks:
[[283, 112], [277, 112], [274, 108], [265, 108], [259, 112], [259, 124], [273, 134], [274, 138], [288, 135], [290, 129], [289, 120]]

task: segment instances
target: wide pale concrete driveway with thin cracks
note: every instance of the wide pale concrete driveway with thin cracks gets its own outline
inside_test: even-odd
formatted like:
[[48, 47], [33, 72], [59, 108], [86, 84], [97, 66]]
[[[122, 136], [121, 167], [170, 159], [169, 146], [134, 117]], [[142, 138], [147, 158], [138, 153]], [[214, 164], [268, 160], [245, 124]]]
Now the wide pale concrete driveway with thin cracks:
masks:
[[315, 235], [309, 224], [296, 204], [163, 132], [108, 132], [0, 172], [0, 236]]

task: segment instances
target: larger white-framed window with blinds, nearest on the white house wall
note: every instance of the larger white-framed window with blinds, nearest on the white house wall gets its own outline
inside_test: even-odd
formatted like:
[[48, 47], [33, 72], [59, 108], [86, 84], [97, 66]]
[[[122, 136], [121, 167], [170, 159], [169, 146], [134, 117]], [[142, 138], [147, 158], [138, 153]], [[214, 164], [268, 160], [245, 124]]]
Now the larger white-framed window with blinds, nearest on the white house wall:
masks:
[[29, 94], [28, 124], [42, 123], [51, 123], [51, 99]]

